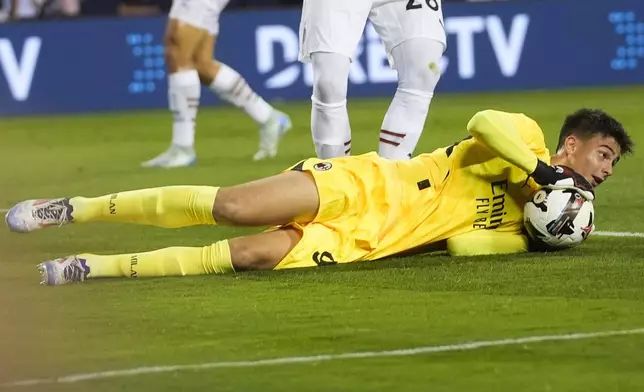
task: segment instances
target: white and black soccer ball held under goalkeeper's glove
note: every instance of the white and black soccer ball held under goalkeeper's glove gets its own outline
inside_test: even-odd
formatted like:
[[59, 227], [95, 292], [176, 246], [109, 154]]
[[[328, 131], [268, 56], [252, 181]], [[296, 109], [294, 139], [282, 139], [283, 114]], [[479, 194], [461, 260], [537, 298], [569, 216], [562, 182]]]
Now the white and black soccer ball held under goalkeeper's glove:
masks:
[[574, 189], [541, 188], [523, 207], [523, 224], [546, 250], [572, 248], [595, 229], [595, 209]]

